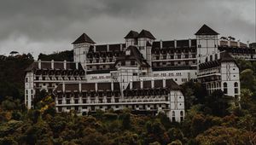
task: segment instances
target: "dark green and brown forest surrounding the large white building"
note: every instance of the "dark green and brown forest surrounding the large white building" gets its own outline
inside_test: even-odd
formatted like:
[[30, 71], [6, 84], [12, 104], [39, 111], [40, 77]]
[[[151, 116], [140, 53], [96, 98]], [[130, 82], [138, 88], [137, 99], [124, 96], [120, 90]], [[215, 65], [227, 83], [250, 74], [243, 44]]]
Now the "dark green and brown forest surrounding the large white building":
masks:
[[[43, 61], [70, 59], [70, 53], [39, 55]], [[55, 113], [54, 96], [40, 94], [35, 108], [24, 107], [24, 70], [30, 54], [0, 55], [0, 144], [225, 145], [256, 144], [256, 62], [237, 60], [241, 100], [215, 91], [207, 96], [200, 83], [181, 87], [186, 114], [181, 123], [165, 114], [100, 110], [90, 115]]]

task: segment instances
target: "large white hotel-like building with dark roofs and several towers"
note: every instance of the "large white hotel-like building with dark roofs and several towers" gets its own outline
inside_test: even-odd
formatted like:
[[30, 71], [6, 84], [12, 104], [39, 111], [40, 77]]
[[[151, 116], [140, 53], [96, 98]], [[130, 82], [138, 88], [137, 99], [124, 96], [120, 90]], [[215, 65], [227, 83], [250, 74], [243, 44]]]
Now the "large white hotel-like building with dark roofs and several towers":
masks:
[[234, 57], [252, 60], [255, 49], [218, 38], [202, 26], [193, 39], [155, 41], [151, 32], [131, 31], [120, 44], [96, 44], [83, 33], [73, 42], [73, 62], [35, 61], [26, 69], [25, 103], [32, 107], [37, 92], [55, 95], [57, 112], [131, 108], [164, 112], [172, 121], [184, 118], [179, 88], [189, 80], [205, 84], [209, 94], [223, 90], [240, 95]]

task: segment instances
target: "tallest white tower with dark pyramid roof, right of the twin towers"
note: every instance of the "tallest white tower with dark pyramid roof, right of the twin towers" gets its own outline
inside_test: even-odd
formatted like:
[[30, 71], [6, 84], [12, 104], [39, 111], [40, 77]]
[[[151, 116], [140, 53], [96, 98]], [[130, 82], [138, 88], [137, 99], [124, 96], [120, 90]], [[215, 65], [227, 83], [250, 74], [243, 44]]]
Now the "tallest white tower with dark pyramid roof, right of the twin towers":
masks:
[[207, 55], [218, 53], [218, 32], [207, 25], [201, 26], [195, 33], [197, 44], [197, 62], [205, 62]]

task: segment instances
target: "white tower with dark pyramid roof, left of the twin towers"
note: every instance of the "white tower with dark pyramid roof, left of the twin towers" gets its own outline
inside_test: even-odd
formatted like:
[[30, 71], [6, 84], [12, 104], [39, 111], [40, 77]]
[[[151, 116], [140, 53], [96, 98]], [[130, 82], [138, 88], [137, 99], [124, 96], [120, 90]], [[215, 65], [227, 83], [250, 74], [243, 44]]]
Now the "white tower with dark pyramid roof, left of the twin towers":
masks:
[[86, 57], [90, 46], [96, 44], [88, 35], [83, 33], [73, 43], [73, 61], [80, 62], [86, 74]]

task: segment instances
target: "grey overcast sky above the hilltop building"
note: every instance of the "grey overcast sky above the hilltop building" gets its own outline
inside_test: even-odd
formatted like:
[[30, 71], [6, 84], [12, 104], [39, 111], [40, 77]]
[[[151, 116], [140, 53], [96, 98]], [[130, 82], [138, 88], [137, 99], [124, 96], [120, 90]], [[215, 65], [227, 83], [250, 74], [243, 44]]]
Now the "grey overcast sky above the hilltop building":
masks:
[[123, 43], [146, 29], [157, 40], [195, 38], [207, 24], [220, 36], [255, 40], [255, 0], [0, 0], [0, 55], [73, 49], [83, 32], [97, 44]]

